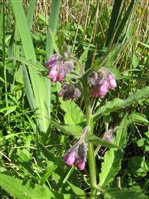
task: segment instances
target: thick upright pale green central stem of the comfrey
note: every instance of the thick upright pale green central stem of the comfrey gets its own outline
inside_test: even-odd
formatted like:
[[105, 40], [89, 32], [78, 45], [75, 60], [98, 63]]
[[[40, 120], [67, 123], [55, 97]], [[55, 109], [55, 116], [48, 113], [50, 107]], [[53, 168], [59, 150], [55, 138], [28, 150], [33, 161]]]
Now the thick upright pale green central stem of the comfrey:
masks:
[[[84, 90], [84, 102], [86, 109], [86, 119], [88, 125], [90, 127], [89, 134], [93, 135], [94, 123], [92, 120], [92, 111], [91, 111], [91, 103], [89, 98], [89, 89], [87, 86], [86, 76], [82, 80], [83, 90]], [[89, 175], [90, 175], [90, 183], [91, 183], [91, 191], [90, 191], [90, 199], [96, 198], [96, 163], [94, 156], [94, 146], [92, 143], [88, 143], [88, 165], [89, 165]]]

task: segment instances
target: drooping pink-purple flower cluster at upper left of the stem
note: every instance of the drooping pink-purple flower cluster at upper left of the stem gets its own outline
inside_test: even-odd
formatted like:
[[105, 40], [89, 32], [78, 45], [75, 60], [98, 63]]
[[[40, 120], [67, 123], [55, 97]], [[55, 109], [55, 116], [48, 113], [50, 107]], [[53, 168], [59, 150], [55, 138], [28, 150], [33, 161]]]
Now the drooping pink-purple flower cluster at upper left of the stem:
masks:
[[49, 69], [48, 77], [52, 82], [61, 82], [74, 68], [72, 61], [65, 61], [58, 54], [54, 54], [45, 65]]

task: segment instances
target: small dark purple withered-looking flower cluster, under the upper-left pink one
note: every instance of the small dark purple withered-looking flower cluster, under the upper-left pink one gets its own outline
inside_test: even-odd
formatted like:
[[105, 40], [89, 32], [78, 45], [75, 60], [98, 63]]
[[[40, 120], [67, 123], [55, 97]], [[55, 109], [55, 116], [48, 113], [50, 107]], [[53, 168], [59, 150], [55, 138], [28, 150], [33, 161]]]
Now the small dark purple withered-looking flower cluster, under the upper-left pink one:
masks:
[[63, 84], [59, 96], [63, 97], [63, 100], [77, 100], [81, 92], [74, 84]]

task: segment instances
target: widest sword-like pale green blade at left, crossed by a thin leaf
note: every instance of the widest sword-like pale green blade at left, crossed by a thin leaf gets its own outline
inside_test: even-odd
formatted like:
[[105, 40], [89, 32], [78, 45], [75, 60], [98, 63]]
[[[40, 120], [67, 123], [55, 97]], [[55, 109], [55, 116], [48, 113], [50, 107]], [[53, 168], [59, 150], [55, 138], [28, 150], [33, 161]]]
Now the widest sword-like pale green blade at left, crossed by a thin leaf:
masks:
[[[36, 61], [35, 49], [28, 24], [29, 21], [27, 21], [23, 4], [21, 1], [13, 0], [11, 0], [11, 4], [15, 16], [15, 22], [21, 38], [24, 56], [27, 60]], [[31, 10], [33, 11], [33, 9]], [[32, 16], [29, 18], [28, 20], [31, 21]], [[36, 119], [39, 129], [42, 132], [46, 132], [49, 126], [49, 120], [46, 119], [46, 117], [49, 117], [51, 108], [50, 94], [48, 93], [48, 91], [50, 91], [50, 81], [48, 81], [45, 77], [39, 76], [32, 67], [28, 67], [28, 70], [24, 67], [23, 75], [29, 104], [31, 108], [36, 109], [36, 112], [39, 115]]]

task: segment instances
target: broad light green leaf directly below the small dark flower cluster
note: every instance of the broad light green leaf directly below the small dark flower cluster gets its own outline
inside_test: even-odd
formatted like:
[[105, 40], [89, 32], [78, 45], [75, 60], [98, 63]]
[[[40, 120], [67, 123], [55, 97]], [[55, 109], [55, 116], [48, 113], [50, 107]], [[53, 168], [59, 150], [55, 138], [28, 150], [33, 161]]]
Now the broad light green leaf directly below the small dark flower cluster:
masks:
[[85, 121], [84, 114], [74, 101], [61, 100], [61, 108], [65, 112], [65, 124], [76, 125]]

